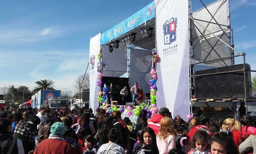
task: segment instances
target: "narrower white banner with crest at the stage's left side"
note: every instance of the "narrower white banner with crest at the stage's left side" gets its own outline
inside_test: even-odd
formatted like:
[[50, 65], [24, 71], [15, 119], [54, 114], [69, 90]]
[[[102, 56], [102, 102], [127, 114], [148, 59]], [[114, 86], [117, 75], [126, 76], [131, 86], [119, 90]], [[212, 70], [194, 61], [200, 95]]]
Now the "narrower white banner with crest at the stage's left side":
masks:
[[99, 92], [99, 86], [97, 84], [97, 64], [99, 63], [98, 54], [100, 51], [100, 36], [101, 33], [92, 37], [90, 40], [90, 100], [89, 107], [95, 112], [97, 106], [97, 93]]

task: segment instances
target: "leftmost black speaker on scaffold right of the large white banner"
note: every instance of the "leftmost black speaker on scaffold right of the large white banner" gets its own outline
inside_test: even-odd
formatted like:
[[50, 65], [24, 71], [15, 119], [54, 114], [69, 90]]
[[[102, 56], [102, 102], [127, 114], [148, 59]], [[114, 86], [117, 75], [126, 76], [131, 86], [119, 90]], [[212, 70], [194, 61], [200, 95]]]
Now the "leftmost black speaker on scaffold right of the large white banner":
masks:
[[[204, 74], [204, 70], [196, 71], [196, 75]], [[204, 76], [197, 76], [195, 78], [195, 97], [196, 98], [205, 98], [205, 91], [204, 91]]]

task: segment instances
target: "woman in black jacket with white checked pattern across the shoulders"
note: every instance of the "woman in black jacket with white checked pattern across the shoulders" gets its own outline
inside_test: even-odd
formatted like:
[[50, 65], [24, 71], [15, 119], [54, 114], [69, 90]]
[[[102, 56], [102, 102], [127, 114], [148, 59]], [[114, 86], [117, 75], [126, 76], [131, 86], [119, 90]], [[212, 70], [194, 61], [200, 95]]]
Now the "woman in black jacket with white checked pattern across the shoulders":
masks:
[[22, 120], [16, 125], [13, 137], [22, 141], [25, 154], [35, 148], [36, 133], [36, 127], [31, 121]]

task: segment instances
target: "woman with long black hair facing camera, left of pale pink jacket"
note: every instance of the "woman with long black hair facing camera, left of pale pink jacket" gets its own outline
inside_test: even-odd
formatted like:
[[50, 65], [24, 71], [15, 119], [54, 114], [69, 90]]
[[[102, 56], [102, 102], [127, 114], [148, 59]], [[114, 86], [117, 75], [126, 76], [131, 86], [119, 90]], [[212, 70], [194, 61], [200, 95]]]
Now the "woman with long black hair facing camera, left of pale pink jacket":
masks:
[[[162, 147], [159, 147], [162, 148]], [[159, 154], [157, 148], [156, 134], [153, 129], [145, 128], [142, 130], [140, 143], [137, 146], [136, 154]]]

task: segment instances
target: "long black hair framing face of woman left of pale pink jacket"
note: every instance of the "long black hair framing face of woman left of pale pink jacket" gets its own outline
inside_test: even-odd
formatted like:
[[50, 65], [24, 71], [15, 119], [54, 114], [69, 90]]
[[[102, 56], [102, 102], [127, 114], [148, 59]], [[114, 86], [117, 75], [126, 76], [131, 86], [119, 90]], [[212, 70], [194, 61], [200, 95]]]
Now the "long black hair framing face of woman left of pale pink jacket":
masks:
[[[152, 136], [152, 144], [150, 146], [145, 144], [145, 142], [144, 142], [144, 137], [143, 137], [144, 133], [149, 133]], [[139, 150], [142, 148], [142, 146], [149, 147], [153, 154], [159, 154], [159, 151], [157, 148], [157, 137], [156, 137], [156, 134], [153, 129], [147, 127], [142, 130], [141, 137], [140, 137], [140, 143], [138, 144], [135, 153], [138, 153]]]

